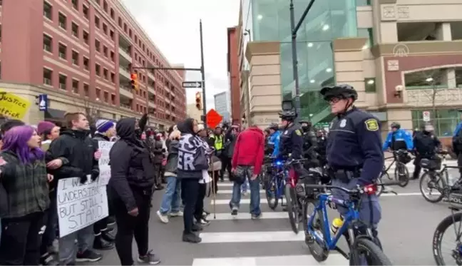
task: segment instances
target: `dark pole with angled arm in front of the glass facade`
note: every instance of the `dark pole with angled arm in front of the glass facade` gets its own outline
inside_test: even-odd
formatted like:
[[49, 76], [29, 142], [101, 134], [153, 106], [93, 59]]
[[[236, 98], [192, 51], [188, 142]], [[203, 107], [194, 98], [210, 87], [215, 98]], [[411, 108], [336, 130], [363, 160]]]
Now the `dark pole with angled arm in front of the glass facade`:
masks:
[[[294, 1], [290, 0], [290, 29], [292, 34], [292, 70], [294, 71], [295, 89], [292, 91], [292, 97], [295, 98], [295, 111], [297, 112], [297, 121], [300, 119], [301, 106], [300, 106], [300, 87], [298, 76], [298, 58], [297, 58], [297, 31], [302, 26], [304, 19], [307, 17], [309, 9], [312, 8], [314, 0], [309, 1], [307, 8], [303, 11], [302, 17], [295, 25]], [[295, 95], [293, 95], [293, 92]]]

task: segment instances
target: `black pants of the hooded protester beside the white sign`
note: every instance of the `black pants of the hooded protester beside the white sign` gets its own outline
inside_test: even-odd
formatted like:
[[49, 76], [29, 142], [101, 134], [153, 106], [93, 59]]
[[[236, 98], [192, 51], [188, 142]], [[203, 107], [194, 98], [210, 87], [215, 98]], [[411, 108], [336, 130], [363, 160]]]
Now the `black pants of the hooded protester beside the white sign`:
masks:
[[133, 236], [138, 245], [138, 254], [144, 256], [148, 253], [151, 195], [145, 195], [142, 190], [132, 191], [138, 206], [136, 217], [128, 214], [125, 203], [118, 196], [111, 197], [117, 222], [116, 250], [121, 266], [133, 265]]

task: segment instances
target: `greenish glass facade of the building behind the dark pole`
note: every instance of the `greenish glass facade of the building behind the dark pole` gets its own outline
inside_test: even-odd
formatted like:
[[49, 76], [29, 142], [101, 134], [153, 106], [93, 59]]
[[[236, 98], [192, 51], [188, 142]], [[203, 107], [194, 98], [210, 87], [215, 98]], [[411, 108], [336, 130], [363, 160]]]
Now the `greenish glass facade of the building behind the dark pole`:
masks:
[[[303, 118], [311, 118], [328, 108], [327, 103], [319, 97], [319, 89], [335, 83], [332, 40], [356, 37], [359, 34], [356, 26], [356, 1], [358, 0], [314, 1], [312, 9], [298, 31], [297, 56]], [[294, 78], [290, 1], [250, 0], [250, 2], [252, 41], [281, 42], [282, 95], [284, 99], [292, 98]], [[308, 3], [307, 0], [294, 0], [296, 23]], [[319, 117], [317, 120], [313, 122], [318, 123]]]

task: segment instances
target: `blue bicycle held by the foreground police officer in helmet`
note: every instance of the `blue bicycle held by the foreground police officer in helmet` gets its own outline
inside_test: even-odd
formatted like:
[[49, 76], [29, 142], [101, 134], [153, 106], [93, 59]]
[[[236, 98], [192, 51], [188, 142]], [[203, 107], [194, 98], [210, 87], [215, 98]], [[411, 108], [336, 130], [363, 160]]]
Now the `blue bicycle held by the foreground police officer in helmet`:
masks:
[[[381, 250], [378, 239], [372, 234], [372, 230], [364, 222], [359, 220], [359, 207], [361, 196], [376, 193], [377, 185], [366, 185], [354, 190], [334, 185], [304, 185], [307, 189], [318, 190], [317, 200], [304, 200], [303, 217], [308, 221], [304, 226], [305, 242], [311, 255], [318, 261], [327, 260], [330, 250], [337, 250], [350, 260], [350, 266], [391, 266], [390, 260]], [[349, 195], [348, 200], [335, 198], [332, 193], [324, 193], [331, 189], [342, 190]], [[308, 205], [314, 205], [314, 211], [308, 216]], [[348, 212], [344, 215], [343, 225], [334, 235], [331, 235], [329, 219], [327, 218], [327, 205], [342, 206]], [[364, 230], [365, 229], [365, 230]], [[340, 237], [345, 235], [349, 244], [350, 252], [344, 252], [337, 247]], [[378, 243], [378, 244], [377, 244]], [[319, 248], [318, 248], [319, 247]]]

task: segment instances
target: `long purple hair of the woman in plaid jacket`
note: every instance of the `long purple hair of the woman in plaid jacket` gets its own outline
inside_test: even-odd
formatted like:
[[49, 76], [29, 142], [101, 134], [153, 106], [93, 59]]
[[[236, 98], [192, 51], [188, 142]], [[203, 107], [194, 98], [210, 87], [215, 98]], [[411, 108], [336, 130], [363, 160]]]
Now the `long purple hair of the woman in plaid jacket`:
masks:
[[29, 148], [27, 141], [31, 139], [36, 132], [31, 126], [15, 126], [6, 131], [3, 138], [2, 151], [9, 150], [16, 153], [21, 163], [33, 163], [35, 160], [41, 160], [44, 157], [40, 148]]

